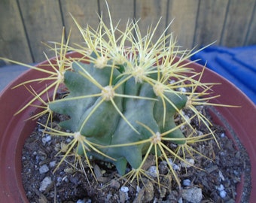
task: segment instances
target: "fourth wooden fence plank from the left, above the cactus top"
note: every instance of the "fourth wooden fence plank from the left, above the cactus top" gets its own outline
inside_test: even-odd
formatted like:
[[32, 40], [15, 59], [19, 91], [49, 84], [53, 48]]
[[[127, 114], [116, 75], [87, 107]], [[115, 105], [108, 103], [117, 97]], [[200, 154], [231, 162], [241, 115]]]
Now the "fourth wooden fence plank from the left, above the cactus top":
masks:
[[[126, 23], [128, 20], [133, 20], [134, 18], [134, 2], [133, 0], [108, 0], [108, 8], [111, 13], [111, 20], [114, 26], [117, 25], [118, 29], [124, 31], [126, 29]], [[105, 24], [109, 26], [109, 16], [108, 16], [108, 8], [105, 1], [99, 1], [99, 13], [102, 15], [102, 19]], [[116, 32], [116, 37], [118, 38], [120, 35]]]

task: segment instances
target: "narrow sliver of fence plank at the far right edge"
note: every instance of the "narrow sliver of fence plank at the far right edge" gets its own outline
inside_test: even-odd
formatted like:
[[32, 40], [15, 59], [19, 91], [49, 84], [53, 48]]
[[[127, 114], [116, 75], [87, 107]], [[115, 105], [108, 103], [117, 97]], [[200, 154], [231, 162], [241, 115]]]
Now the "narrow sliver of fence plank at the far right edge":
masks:
[[254, 10], [251, 17], [251, 22], [248, 27], [247, 38], [245, 38], [245, 46], [256, 45], [256, 1], [254, 2]]

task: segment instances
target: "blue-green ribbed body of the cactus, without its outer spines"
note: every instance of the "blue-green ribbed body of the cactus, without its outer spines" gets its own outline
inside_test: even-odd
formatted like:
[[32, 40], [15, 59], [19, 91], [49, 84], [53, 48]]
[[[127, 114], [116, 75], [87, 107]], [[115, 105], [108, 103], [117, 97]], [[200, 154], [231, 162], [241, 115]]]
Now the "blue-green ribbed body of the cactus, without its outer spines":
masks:
[[[166, 138], [184, 138], [175, 128], [174, 116], [187, 104], [187, 96], [168, 89], [169, 80], [160, 83], [157, 78], [163, 78], [163, 73], [157, 66], [152, 66], [148, 75], [139, 72], [134, 77], [126, 72], [130, 68], [126, 63], [108, 62], [98, 68], [93, 62], [72, 62], [72, 71], [64, 74], [69, 95], [49, 105], [51, 111], [70, 117], [59, 123], [62, 128], [84, 136], [102, 152], [81, 141], [78, 153], [112, 162], [120, 174], [124, 174], [127, 162], [139, 168], [150, 145], [150, 141], [143, 141], [160, 141], [163, 132], [169, 132]], [[174, 142], [184, 144], [182, 139]]]

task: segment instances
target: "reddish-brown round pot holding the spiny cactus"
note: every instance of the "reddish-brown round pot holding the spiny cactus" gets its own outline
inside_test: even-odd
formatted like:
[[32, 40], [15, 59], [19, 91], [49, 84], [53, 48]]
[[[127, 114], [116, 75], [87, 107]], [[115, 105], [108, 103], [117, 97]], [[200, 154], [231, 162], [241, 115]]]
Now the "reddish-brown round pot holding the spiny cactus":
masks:
[[[69, 56], [75, 57], [77, 53], [69, 53]], [[52, 59], [53, 60], [53, 59]], [[47, 64], [42, 62], [41, 64]], [[197, 63], [192, 63], [191, 68], [196, 71], [201, 71], [203, 66]], [[49, 68], [49, 67], [45, 67]], [[42, 77], [41, 72], [29, 70], [20, 75], [17, 80], [14, 80], [9, 86], [2, 91], [0, 95], [0, 199], [2, 202], [28, 202], [25, 191], [23, 189], [21, 171], [21, 152], [26, 137], [28, 137], [35, 128], [35, 121], [27, 120], [31, 114], [38, 111], [35, 108], [29, 107], [14, 117], [14, 114], [23, 107], [29, 98], [32, 96], [23, 87], [11, 89], [25, 80]], [[223, 77], [215, 74], [215, 72], [206, 69], [202, 78], [203, 82], [218, 82], [222, 85], [214, 86], [212, 89], [220, 94], [221, 97], [215, 98], [215, 103], [240, 105], [241, 108], [214, 108], [212, 111], [215, 121], [226, 129], [233, 129], [233, 132], [238, 136], [242, 145], [248, 151], [251, 159], [251, 196], [250, 202], [256, 199], [256, 107], [255, 105], [236, 88], [232, 83], [225, 80]], [[44, 88], [45, 83], [35, 83], [35, 90]], [[50, 92], [52, 94], [52, 92]], [[222, 118], [220, 118], [220, 112]], [[227, 123], [223, 122], [226, 120]], [[231, 133], [228, 136], [232, 138], [236, 144], [236, 139]], [[243, 177], [241, 183], [237, 186], [236, 202], [242, 200], [243, 195]]]

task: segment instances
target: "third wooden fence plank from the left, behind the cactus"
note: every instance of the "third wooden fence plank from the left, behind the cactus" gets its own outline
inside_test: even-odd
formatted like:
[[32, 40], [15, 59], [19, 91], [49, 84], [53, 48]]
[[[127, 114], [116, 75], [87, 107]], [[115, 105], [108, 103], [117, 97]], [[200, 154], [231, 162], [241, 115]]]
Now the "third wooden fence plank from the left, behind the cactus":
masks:
[[62, 17], [66, 27], [66, 35], [69, 35], [69, 30], [72, 29], [70, 44], [81, 44], [83, 38], [81, 37], [81, 33], [75, 25], [74, 20], [72, 20], [70, 14], [75, 17], [75, 20], [82, 28], [85, 28], [88, 24], [93, 27], [93, 29], [96, 29], [99, 24], [99, 19], [97, 16], [98, 2], [95, 0], [62, 0], [60, 1], [60, 6], [62, 8]]

